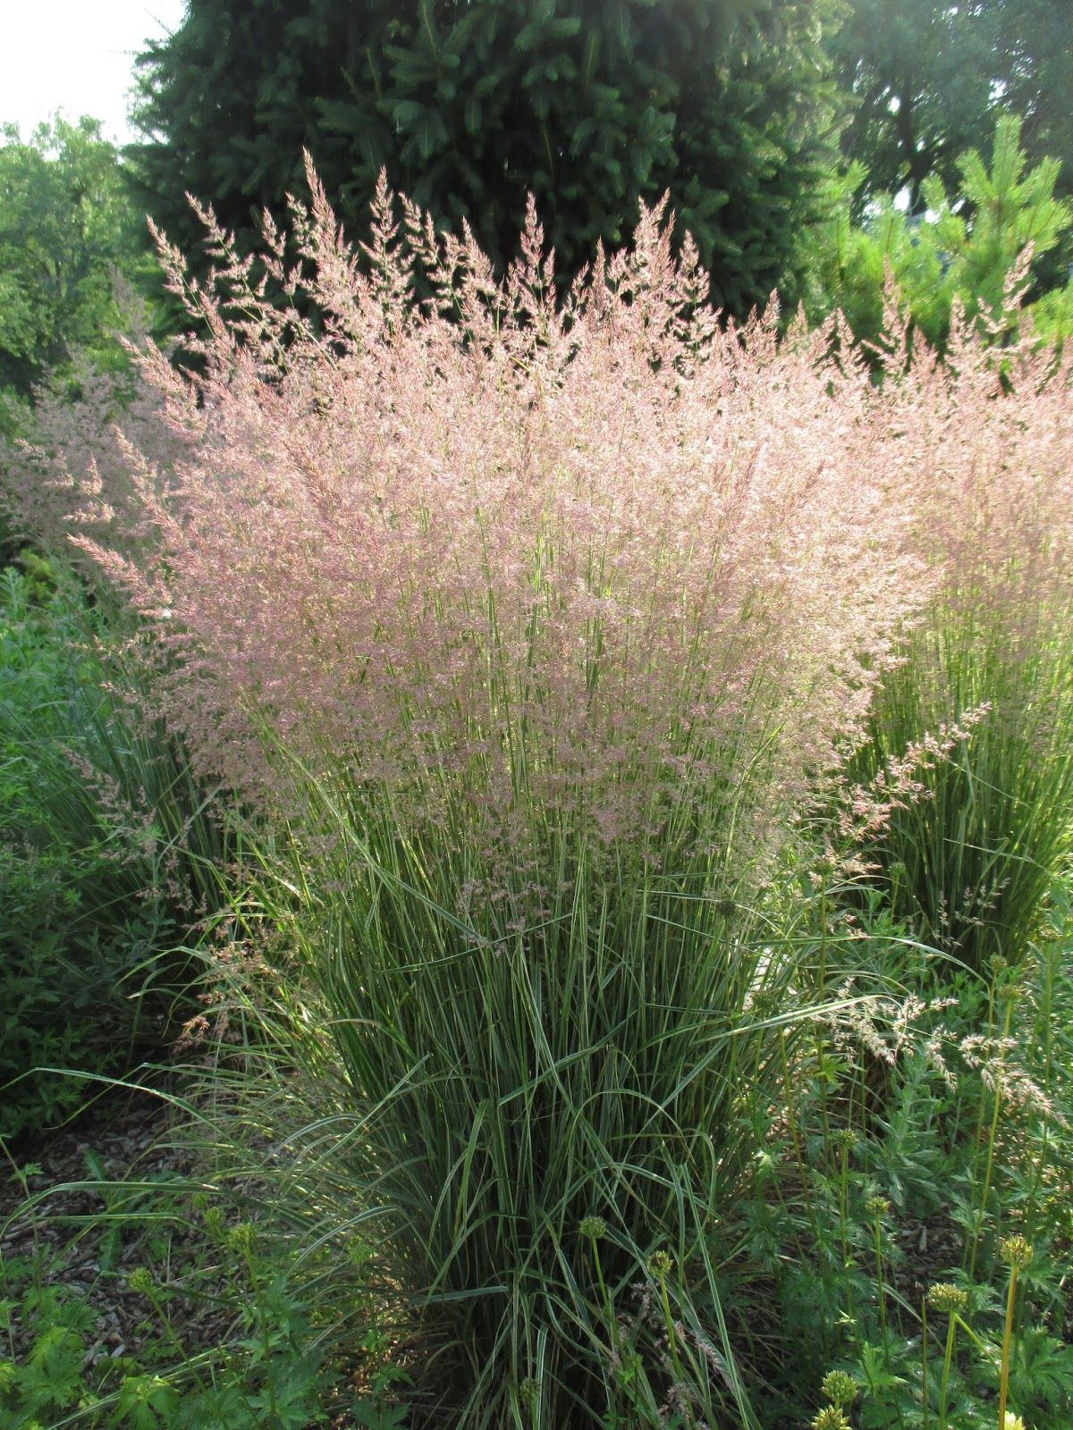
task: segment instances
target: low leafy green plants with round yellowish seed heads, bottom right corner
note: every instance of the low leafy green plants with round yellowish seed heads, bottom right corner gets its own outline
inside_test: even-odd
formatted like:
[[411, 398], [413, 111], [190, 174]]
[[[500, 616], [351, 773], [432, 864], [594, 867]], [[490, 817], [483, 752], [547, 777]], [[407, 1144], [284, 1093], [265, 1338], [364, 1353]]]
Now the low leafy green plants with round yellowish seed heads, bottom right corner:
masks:
[[[800, 1373], [815, 1364], [843, 1377], [827, 1399], [853, 1426], [1067, 1423], [1064, 882], [1054, 895], [1017, 974], [994, 960], [956, 1002], [920, 1005], [916, 1030], [854, 1015], [803, 1045], [788, 1117], [811, 1155], [778, 1175], [763, 1220], [747, 1208], [740, 1267], [780, 1307], [755, 1363], [765, 1426], [800, 1426], [810, 1400], [815, 1424], [843, 1423]], [[880, 1037], [891, 1061], [870, 1107], [851, 1088]]]

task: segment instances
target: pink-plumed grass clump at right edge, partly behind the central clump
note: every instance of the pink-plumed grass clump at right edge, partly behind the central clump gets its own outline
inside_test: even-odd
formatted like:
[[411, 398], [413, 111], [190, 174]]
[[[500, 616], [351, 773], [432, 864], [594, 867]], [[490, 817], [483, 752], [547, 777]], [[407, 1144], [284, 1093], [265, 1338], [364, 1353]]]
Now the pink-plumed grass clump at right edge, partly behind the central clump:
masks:
[[891, 476], [940, 581], [854, 768], [868, 779], [929, 732], [973, 726], [877, 857], [896, 917], [977, 972], [1024, 955], [1073, 832], [1070, 359], [1034, 346], [989, 349], [957, 319], [946, 362], [907, 363], [903, 329], [883, 383]]

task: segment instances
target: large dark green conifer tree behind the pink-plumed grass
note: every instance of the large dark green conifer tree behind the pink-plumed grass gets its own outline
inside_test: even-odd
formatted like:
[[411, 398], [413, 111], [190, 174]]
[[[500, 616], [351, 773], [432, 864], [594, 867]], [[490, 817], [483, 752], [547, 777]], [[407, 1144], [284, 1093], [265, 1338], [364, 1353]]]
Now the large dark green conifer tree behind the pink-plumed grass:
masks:
[[302, 192], [308, 149], [351, 232], [381, 167], [494, 262], [526, 193], [572, 276], [664, 190], [734, 312], [784, 273], [830, 160], [837, 0], [190, 0], [142, 59], [132, 153], [187, 250], [189, 192], [240, 245]]

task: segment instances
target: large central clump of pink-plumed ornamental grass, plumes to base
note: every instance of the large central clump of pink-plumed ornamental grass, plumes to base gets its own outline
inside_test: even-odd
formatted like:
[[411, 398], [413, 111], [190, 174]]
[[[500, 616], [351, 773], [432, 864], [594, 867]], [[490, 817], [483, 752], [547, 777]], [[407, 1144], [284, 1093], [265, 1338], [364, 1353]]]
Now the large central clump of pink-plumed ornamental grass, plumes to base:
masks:
[[660, 209], [559, 299], [532, 213], [496, 283], [385, 183], [349, 249], [309, 180], [293, 265], [163, 247], [189, 455], [129, 446], [139, 541], [93, 549], [288, 835], [263, 902], [458, 1423], [754, 1424], [721, 1214], [810, 1010], [753, 911], [927, 586], [874, 390], [721, 327]]

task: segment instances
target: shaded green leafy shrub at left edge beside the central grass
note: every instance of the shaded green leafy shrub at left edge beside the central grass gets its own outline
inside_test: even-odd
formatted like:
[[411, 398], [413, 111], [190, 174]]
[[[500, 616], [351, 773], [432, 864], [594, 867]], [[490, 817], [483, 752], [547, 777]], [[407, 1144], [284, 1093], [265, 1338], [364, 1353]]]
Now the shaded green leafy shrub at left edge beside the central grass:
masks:
[[183, 982], [182, 957], [160, 955], [217, 898], [225, 849], [179, 746], [137, 708], [137, 662], [70, 575], [26, 568], [0, 575], [3, 1137], [84, 1095], [34, 1068], [122, 1071], [132, 1040], [155, 1045]]

